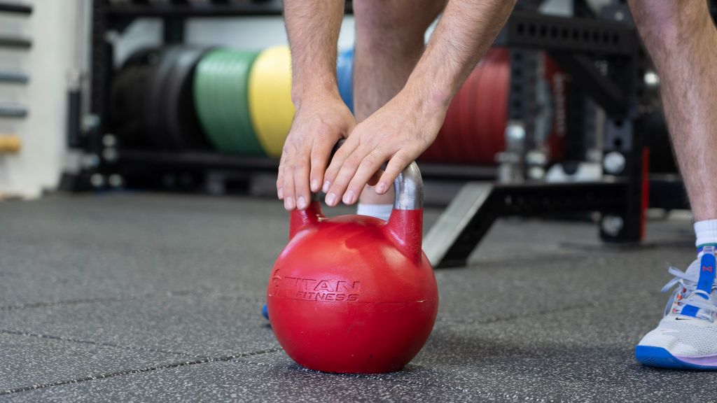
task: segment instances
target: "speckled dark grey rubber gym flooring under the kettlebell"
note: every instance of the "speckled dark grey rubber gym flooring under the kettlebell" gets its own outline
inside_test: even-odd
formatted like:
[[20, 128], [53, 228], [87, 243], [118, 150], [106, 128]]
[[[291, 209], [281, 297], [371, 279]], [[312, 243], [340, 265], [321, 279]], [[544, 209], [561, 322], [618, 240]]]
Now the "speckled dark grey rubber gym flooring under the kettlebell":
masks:
[[277, 345], [260, 307], [287, 227], [268, 199], [0, 203], [0, 401], [717, 400], [715, 374], [632, 356], [668, 265], [693, 259], [688, 219], [650, 221], [627, 250], [599, 247], [594, 224], [499, 222], [468, 267], [437, 270], [421, 353], [376, 376], [301, 369]]

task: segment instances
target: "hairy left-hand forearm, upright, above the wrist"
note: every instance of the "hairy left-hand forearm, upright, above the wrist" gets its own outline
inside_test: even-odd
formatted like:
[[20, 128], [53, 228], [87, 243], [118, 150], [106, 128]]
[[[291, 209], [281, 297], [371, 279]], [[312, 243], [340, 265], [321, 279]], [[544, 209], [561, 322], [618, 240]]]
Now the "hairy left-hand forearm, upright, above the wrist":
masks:
[[336, 42], [343, 0], [285, 0], [284, 18], [291, 47], [292, 99], [338, 93]]

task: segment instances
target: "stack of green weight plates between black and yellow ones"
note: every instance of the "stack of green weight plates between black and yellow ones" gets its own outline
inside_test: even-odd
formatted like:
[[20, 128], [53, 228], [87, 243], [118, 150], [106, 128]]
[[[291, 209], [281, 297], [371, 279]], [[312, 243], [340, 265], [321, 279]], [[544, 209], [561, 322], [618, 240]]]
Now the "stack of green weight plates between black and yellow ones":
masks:
[[194, 100], [201, 127], [219, 151], [262, 155], [250, 118], [247, 87], [257, 52], [217, 49], [194, 74]]

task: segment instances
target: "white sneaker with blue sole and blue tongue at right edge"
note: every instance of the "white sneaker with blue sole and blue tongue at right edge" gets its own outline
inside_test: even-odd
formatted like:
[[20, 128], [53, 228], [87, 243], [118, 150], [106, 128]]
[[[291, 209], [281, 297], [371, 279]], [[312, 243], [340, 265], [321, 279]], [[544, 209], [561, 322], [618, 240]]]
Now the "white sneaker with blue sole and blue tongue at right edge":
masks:
[[641, 364], [672, 369], [717, 369], [717, 282], [714, 247], [704, 247], [686, 272], [670, 267], [674, 285], [665, 317], [635, 347]]

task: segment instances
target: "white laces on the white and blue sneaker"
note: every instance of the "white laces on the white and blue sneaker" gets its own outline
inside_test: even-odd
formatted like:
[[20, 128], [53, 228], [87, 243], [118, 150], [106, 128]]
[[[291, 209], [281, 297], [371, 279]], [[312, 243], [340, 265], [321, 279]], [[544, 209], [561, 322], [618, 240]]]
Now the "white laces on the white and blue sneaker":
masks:
[[670, 298], [665, 314], [676, 315], [682, 311], [685, 305], [692, 305], [698, 308], [698, 313], [695, 318], [714, 322], [717, 317], [715, 285], [713, 285], [712, 293], [708, 294], [703, 290], [697, 289], [697, 283], [700, 279], [699, 270], [687, 270], [683, 272], [677, 267], [670, 266], [668, 272], [675, 277], [665, 284], [662, 292], [666, 293], [675, 285], [678, 285], [678, 288], [675, 289], [675, 292]]

